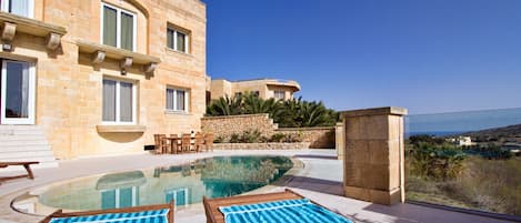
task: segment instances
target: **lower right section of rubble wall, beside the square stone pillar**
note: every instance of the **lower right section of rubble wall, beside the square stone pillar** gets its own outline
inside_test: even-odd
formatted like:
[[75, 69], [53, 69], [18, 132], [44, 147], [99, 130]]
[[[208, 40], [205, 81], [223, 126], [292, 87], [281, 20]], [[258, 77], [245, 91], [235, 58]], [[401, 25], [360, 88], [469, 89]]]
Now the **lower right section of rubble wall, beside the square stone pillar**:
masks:
[[312, 149], [334, 149], [334, 128], [280, 128], [275, 133], [297, 134], [302, 142], [309, 142]]

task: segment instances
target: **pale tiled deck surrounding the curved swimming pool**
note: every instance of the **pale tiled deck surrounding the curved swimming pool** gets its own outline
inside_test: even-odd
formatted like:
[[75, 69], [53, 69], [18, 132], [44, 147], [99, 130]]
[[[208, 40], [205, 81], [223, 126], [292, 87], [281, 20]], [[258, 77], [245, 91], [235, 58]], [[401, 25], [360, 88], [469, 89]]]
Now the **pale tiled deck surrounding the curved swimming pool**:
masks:
[[[130, 171], [154, 166], [168, 166], [212, 155], [277, 154], [291, 155], [301, 160], [304, 168], [284, 185], [272, 185], [268, 191], [280, 191], [283, 186], [335, 210], [355, 222], [505, 222], [479, 215], [444, 211], [414, 204], [384, 206], [341, 196], [342, 161], [335, 159], [334, 150], [287, 150], [287, 151], [216, 151], [213, 153], [183, 155], [124, 155], [62, 161], [59, 168], [34, 170], [36, 180], [20, 179], [0, 185], [0, 222], [29, 223], [41, 217], [14, 212], [10, 202], [17, 195], [51, 182], [108, 172]], [[1, 172], [0, 174], [7, 174]], [[176, 213], [177, 223], [203, 223], [206, 216], [201, 204], [191, 205]]]

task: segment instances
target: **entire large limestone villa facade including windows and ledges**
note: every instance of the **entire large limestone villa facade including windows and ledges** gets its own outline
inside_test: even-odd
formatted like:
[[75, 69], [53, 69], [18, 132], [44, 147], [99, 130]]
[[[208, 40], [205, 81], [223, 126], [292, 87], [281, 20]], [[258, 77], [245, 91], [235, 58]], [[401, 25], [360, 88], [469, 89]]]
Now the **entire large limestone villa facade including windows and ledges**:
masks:
[[10, 139], [32, 128], [57, 159], [74, 159], [198, 131], [206, 22], [199, 0], [2, 0], [0, 138], [14, 151]]

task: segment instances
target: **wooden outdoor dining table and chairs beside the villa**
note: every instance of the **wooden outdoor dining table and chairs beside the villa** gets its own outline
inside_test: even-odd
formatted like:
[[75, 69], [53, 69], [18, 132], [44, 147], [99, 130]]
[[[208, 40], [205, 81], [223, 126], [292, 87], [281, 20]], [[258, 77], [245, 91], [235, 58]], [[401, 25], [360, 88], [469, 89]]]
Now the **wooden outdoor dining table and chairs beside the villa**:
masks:
[[181, 154], [213, 151], [213, 133], [154, 134], [156, 154]]

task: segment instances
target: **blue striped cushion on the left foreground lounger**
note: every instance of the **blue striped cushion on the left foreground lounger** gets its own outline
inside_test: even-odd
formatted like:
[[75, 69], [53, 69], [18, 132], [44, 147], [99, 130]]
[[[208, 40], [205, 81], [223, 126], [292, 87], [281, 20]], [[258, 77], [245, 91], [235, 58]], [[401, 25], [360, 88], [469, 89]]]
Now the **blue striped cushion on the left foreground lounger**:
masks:
[[161, 209], [142, 212], [53, 217], [50, 223], [168, 223], [169, 211], [168, 209]]

